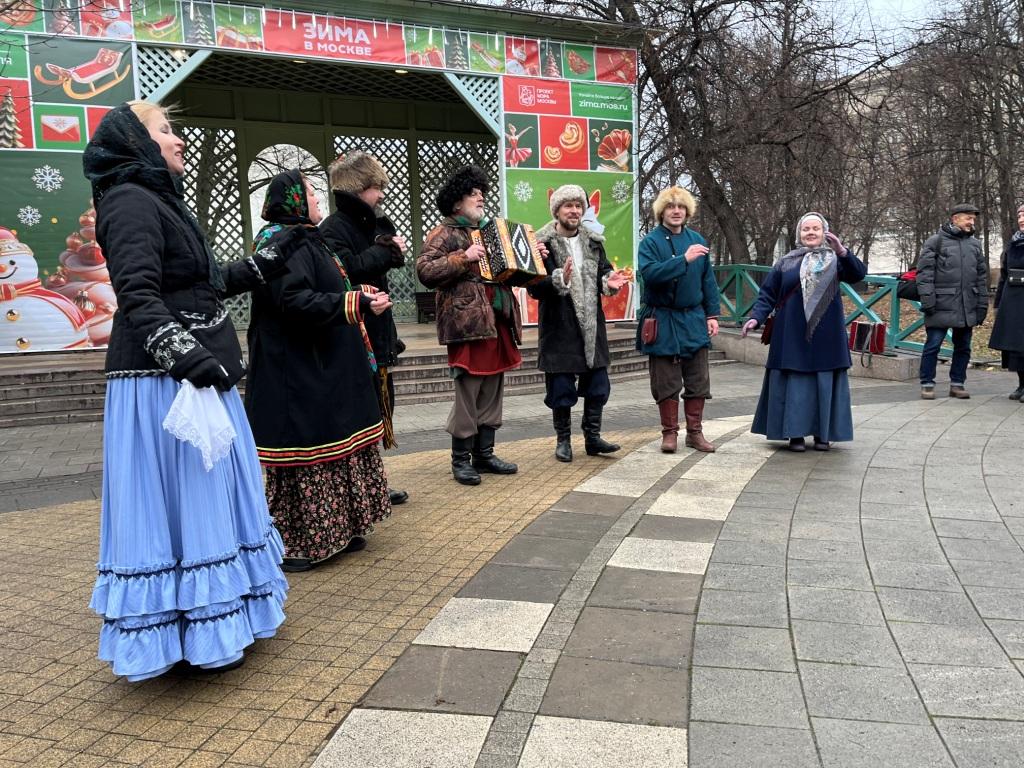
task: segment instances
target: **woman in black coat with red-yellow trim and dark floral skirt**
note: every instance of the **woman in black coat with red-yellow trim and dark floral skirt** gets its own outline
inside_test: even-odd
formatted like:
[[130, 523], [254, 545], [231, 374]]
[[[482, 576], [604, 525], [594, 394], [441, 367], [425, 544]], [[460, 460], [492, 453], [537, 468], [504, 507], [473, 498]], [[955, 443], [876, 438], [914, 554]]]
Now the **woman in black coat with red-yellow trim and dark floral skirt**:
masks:
[[391, 306], [386, 293], [352, 288], [316, 224], [323, 215], [297, 170], [273, 177], [259, 251], [295, 243], [281, 280], [253, 292], [246, 411], [266, 494], [285, 540], [285, 570], [308, 570], [391, 514], [378, 442], [384, 435], [362, 327]]

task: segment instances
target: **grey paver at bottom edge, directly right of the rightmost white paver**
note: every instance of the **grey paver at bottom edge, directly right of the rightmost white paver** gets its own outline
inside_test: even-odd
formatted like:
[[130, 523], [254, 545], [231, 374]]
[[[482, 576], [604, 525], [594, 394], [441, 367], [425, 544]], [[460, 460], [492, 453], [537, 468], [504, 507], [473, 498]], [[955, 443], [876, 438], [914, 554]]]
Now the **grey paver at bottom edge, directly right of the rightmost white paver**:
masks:
[[807, 730], [691, 722], [689, 739], [700, 768], [821, 768]]

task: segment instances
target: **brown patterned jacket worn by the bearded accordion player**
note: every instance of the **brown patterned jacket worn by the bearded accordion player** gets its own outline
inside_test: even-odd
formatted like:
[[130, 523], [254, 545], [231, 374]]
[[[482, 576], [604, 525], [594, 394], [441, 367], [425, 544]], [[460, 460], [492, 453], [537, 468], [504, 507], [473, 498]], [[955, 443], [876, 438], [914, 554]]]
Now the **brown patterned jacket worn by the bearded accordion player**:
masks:
[[437, 341], [458, 344], [463, 341], [494, 339], [497, 323], [508, 323], [516, 344], [522, 340], [522, 315], [512, 291], [495, 286], [503, 292], [502, 305], [507, 316], [495, 312], [487, 298], [487, 288], [480, 276], [480, 267], [466, 260], [466, 249], [472, 245], [470, 227], [445, 217], [430, 230], [416, 259], [416, 274], [427, 288], [437, 291]]

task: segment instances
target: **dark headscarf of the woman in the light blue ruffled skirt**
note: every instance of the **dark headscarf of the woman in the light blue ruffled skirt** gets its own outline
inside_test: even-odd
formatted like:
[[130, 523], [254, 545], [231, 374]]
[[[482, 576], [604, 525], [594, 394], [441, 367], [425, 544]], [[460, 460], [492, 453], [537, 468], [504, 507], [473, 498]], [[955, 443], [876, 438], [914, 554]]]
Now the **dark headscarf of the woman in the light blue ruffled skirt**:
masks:
[[111, 110], [99, 121], [85, 147], [82, 167], [92, 184], [92, 202], [97, 211], [102, 207], [103, 196], [114, 186], [125, 183], [144, 186], [177, 211], [203, 244], [209, 262], [210, 284], [218, 291], [224, 290], [224, 279], [206, 233], [185, 205], [181, 177], [171, 173], [160, 154], [160, 145], [129, 104]]

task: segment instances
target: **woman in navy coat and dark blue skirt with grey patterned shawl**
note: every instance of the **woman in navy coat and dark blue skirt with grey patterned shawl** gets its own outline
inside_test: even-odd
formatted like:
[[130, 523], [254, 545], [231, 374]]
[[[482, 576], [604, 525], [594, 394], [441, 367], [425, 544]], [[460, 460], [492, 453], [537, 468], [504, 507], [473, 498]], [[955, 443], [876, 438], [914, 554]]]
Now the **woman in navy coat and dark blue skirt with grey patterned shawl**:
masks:
[[743, 325], [743, 336], [775, 311], [765, 379], [751, 431], [788, 439], [791, 451], [853, 439], [850, 349], [840, 283], [858, 283], [864, 262], [828, 231], [820, 213], [797, 222], [798, 248], [772, 267]]

